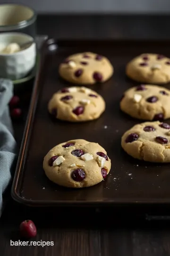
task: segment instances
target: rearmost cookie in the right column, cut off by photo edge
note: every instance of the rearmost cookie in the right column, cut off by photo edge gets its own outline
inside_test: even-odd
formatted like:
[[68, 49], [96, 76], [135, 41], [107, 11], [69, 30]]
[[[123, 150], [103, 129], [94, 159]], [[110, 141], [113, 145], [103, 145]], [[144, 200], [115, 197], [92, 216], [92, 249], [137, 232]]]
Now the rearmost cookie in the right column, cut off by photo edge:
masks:
[[127, 64], [126, 74], [137, 82], [170, 82], [170, 58], [158, 54], [142, 54]]

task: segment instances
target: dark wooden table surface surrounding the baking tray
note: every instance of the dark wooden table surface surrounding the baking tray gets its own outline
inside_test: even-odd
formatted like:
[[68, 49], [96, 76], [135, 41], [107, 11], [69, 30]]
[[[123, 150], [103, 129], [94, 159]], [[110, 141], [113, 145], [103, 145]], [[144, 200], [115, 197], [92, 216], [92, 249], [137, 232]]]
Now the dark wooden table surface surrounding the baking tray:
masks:
[[[169, 39], [170, 16], [41, 16], [38, 33], [56, 38], [155, 38]], [[14, 122], [18, 146], [33, 81], [24, 90], [16, 89], [23, 99], [24, 118]], [[31, 188], [30, 188], [31, 189]], [[136, 214], [116, 209], [27, 208], [7, 196], [0, 219], [2, 256], [169, 256], [170, 219], [145, 220]], [[160, 209], [158, 209], [160, 210]], [[18, 241], [18, 228], [32, 219], [38, 229], [32, 241], [53, 241], [54, 246], [10, 246]]]

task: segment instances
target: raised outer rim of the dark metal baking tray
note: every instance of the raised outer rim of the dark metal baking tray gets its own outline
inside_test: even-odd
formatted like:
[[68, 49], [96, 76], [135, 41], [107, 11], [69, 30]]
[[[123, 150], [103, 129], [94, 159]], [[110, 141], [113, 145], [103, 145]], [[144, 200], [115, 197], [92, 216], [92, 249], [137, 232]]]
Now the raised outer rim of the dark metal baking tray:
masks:
[[[24, 133], [23, 133], [23, 138], [22, 138], [22, 142], [21, 142], [21, 146], [20, 146], [20, 150], [19, 150], [19, 154], [18, 154], [18, 159], [17, 159], [17, 165], [16, 165], [16, 170], [15, 170], [15, 174], [14, 174], [14, 178], [12, 181], [12, 187], [11, 187], [11, 196], [12, 198], [19, 202], [22, 203], [24, 205], [27, 206], [34, 206], [34, 207], [49, 207], [49, 206], [68, 206], [68, 205], [72, 205], [72, 206], [80, 206], [80, 205], [85, 205], [85, 206], [94, 206], [94, 207], [98, 207], [101, 205], [104, 206], [115, 206], [115, 205], [165, 205], [168, 204], [170, 205], [170, 199], [155, 199], [155, 200], [140, 200], [140, 201], [135, 201], [135, 200], [126, 200], [124, 201], [123, 199], [119, 199], [118, 200], [110, 200], [110, 201], [38, 201], [38, 200], [29, 200], [29, 199], [25, 199], [23, 197], [21, 197], [18, 193], [17, 193], [17, 185], [18, 185], [18, 180], [19, 180], [19, 175], [22, 169], [22, 165], [24, 163], [24, 158], [26, 155], [26, 148], [27, 145], [29, 145], [29, 137], [32, 133], [32, 126], [33, 126], [33, 121], [34, 121], [34, 115], [35, 115], [35, 110], [37, 107], [37, 101], [38, 101], [38, 96], [39, 96], [39, 86], [38, 86], [38, 81], [41, 77], [41, 70], [43, 67], [43, 59], [45, 58], [45, 52], [43, 51], [43, 49], [47, 46], [50, 46], [51, 44], [57, 44], [57, 45], [62, 45], [62, 44], [68, 44], [70, 43], [70, 47], [71, 47], [71, 43], [73, 43], [73, 45], [75, 45], [76, 43], [79, 42], [84, 42], [84, 43], [147, 43], [147, 44], [152, 44], [152, 43], [161, 43], [161, 44], [170, 44], [170, 39], [140, 39], [140, 38], [136, 38], [136, 39], [55, 39], [55, 38], [47, 38], [46, 40], [44, 40], [44, 42], [42, 43], [42, 47], [40, 49], [40, 61], [39, 61], [39, 66], [37, 69], [37, 73], [35, 75], [35, 80], [34, 80], [34, 86], [33, 86], [33, 91], [32, 91], [32, 95], [31, 95], [31, 101], [30, 101], [30, 106], [29, 106], [29, 110], [28, 110], [28, 114], [27, 114], [27, 118], [26, 118], [26, 124], [25, 124], [25, 128], [24, 128]], [[69, 47], [67, 46], [67, 47]]]

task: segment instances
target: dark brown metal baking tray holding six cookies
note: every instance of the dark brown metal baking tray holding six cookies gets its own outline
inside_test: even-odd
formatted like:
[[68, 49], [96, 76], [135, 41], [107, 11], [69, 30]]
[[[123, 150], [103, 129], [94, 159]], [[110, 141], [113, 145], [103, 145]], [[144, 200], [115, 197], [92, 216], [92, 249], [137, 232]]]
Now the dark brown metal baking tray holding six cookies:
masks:
[[[52, 94], [72, 84], [59, 78], [59, 64], [68, 55], [92, 51], [105, 55], [114, 65], [113, 77], [89, 86], [106, 101], [106, 111], [93, 121], [69, 123], [52, 120], [47, 103]], [[121, 148], [122, 134], [136, 123], [119, 109], [125, 90], [138, 83], [127, 79], [125, 66], [141, 53], [170, 56], [169, 41], [54, 40], [42, 46], [41, 64], [34, 84], [25, 133], [12, 185], [12, 197], [29, 206], [115, 206], [170, 203], [170, 165], [138, 161]], [[170, 89], [170, 84], [165, 87]], [[170, 120], [167, 120], [170, 123]], [[42, 169], [43, 157], [55, 145], [83, 138], [98, 142], [111, 159], [104, 182], [83, 189], [52, 183]]]

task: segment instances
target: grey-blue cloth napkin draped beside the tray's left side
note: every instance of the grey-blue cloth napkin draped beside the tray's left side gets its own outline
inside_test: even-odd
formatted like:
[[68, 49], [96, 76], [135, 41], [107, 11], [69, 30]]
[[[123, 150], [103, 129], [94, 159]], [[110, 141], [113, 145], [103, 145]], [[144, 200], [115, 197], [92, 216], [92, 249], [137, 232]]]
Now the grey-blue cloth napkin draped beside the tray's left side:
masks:
[[4, 204], [4, 193], [11, 181], [13, 163], [17, 156], [17, 144], [13, 136], [8, 109], [8, 103], [12, 96], [12, 82], [0, 79], [0, 216]]

